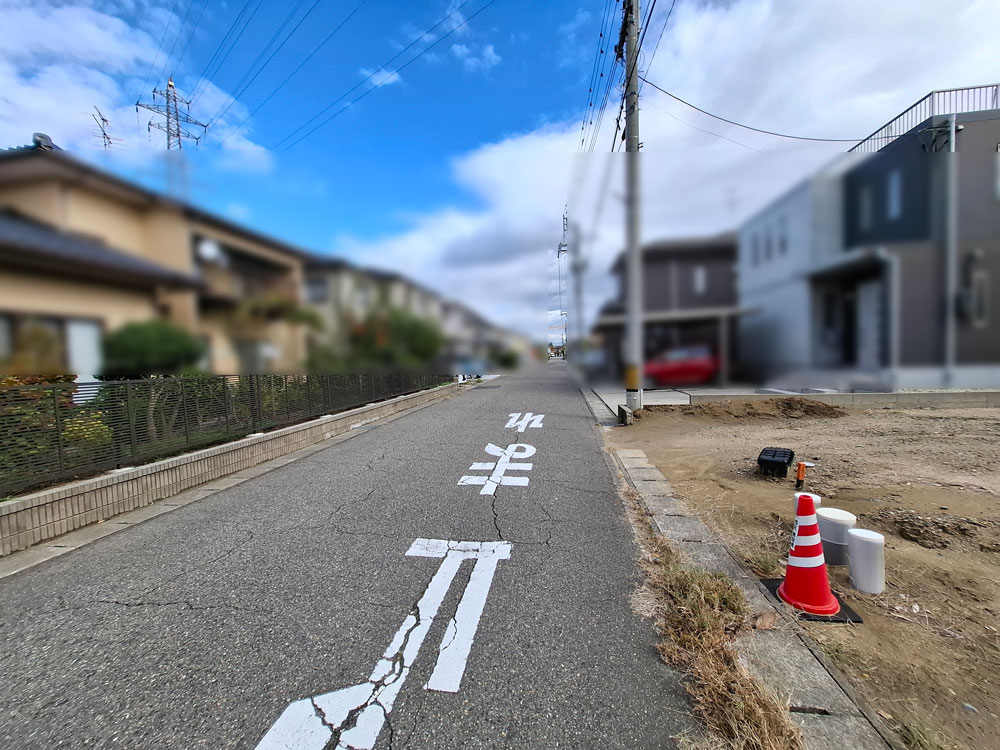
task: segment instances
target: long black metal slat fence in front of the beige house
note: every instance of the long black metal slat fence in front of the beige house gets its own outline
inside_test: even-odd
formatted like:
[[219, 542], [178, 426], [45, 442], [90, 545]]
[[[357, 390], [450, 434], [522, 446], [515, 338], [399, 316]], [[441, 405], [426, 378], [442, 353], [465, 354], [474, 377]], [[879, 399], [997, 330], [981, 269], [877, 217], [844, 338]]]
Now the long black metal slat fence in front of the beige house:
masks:
[[448, 380], [416, 373], [206, 375], [0, 388], [0, 497]]

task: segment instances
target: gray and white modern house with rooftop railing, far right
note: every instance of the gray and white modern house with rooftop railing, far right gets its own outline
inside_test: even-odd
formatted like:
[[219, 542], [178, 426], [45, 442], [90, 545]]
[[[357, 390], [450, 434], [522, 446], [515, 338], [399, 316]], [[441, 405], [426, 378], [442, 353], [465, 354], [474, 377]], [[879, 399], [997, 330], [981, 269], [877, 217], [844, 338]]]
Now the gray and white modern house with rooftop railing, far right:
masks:
[[997, 95], [928, 94], [741, 227], [751, 374], [786, 387], [1000, 385]]

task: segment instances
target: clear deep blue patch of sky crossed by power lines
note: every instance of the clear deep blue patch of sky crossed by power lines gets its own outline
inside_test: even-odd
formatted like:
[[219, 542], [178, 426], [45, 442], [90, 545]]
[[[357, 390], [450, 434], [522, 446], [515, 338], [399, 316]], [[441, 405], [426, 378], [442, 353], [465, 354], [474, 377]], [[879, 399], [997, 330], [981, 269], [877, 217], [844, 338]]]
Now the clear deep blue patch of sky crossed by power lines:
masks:
[[[178, 1], [178, 15], [183, 16], [187, 5], [187, 0]], [[255, 5], [256, 0], [251, 10]], [[312, 5], [313, 0], [302, 3], [287, 30]], [[247, 129], [249, 137], [270, 149], [358, 86], [328, 114], [342, 110], [371, 88], [365, 83], [366, 71], [378, 70], [456, 5], [443, 0], [367, 0], [253, 116]], [[470, 0], [436, 33], [440, 35], [462, 16], [487, 5], [488, 0]], [[197, 91], [199, 73], [242, 6], [240, 0], [226, 8], [208, 9], [184, 59], [163, 68], [165, 74], [175, 72], [182, 93]], [[246, 90], [240, 104], [255, 108], [356, 6], [357, 0], [319, 0], [306, 22]], [[192, 0], [190, 7], [189, 23], [199, 13], [201, 3]], [[292, 3], [263, 3], [212, 82], [224, 91], [234, 91], [292, 7]], [[121, 17], [131, 25], [142, 25], [138, 13], [123, 13]], [[556, 40], [558, 27], [567, 19], [577, 19], [581, 33], [576, 43]], [[595, 16], [581, 12], [574, 2], [500, 0], [411, 63], [398, 81], [378, 87], [290, 148], [290, 141], [285, 141], [275, 150], [274, 168], [266, 179], [234, 182], [226, 171], [213, 169], [215, 144], [210, 134], [205, 144], [190, 154], [198, 174], [192, 195], [219, 212], [245, 214], [246, 221], [261, 229], [319, 249], [330, 246], [335, 232], [365, 238], [398, 230], [409, 215], [442, 202], [475, 208], [476, 197], [461, 190], [451, 178], [451, 157], [579, 109], [585, 95], [581, 81], [589, 75], [591, 63], [591, 36], [597, 37], [596, 31], [585, 37], [582, 32], [590, 26], [596, 28], [597, 23]], [[165, 46], [171, 45], [179, 25], [176, 21], [171, 24]], [[186, 36], [182, 34], [179, 46], [186, 43]], [[396, 70], [426, 48], [428, 41], [430, 38], [403, 52], [376, 75]], [[453, 49], [453, 45], [458, 46]], [[138, 90], [138, 85], [135, 88]], [[192, 110], [192, 115], [203, 121], [210, 121], [222, 108], [204, 104], [202, 97]], [[133, 131], [142, 146], [149, 113], [140, 115], [138, 130], [134, 118], [113, 128]], [[162, 134], [154, 136], [156, 142], [162, 140]], [[138, 174], [153, 184], [162, 182], [157, 170]]]

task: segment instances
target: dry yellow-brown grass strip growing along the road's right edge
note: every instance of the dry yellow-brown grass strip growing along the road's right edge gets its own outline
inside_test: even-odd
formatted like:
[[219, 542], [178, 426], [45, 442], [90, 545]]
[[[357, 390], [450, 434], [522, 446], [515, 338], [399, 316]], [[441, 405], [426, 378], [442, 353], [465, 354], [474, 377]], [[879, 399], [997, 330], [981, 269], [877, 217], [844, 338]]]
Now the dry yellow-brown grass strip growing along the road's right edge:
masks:
[[743, 592], [718, 573], [691, 570], [656, 534], [638, 495], [624, 493], [645, 552], [646, 583], [637, 597], [661, 636], [663, 660], [687, 676], [702, 722], [726, 750], [802, 750], [802, 734], [788, 705], [754, 679], [733, 643], [749, 627]]

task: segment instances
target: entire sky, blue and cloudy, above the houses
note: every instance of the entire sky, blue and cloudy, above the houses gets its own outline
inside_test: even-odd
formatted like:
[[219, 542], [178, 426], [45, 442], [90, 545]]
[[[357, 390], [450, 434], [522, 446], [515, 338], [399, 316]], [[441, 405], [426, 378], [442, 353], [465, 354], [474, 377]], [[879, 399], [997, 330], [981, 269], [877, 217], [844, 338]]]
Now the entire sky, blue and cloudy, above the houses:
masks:
[[[162, 87], [173, 73], [196, 97], [192, 115], [212, 122], [202, 145], [185, 151], [194, 202], [317, 252], [409, 274], [538, 338], [568, 203], [590, 261], [592, 320], [613, 293], [607, 269], [624, 226], [621, 157], [607, 155], [617, 89], [594, 154], [576, 153], [607, 0], [367, 0], [249, 116], [359, 1], [252, 0], [259, 8], [246, 32], [206, 70], [246, 0], [0, 0], [0, 144], [46, 132], [162, 187], [163, 135], [149, 140], [151, 115], [137, 123], [135, 99], [145, 89], [148, 101], [153, 81]], [[240, 92], [288, 11], [297, 8], [286, 31], [313, 3]], [[365, 83], [365, 71], [449, 13], [433, 39], [469, 22], [401, 72], [430, 38]], [[757, 127], [850, 139], [932, 89], [994, 82], [1000, 3], [955, 0], [942, 13], [929, 0], [662, 0], [648, 27], [640, 71], [661, 87]], [[341, 94], [375, 83], [308, 139], [275, 148]], [[94, 137], [94, 105], [120, 139], [110, 158]], [[747, 131], [650, 86], [640, 122], [646, 239], [731, 230], [850, 145]]]

